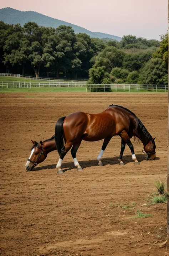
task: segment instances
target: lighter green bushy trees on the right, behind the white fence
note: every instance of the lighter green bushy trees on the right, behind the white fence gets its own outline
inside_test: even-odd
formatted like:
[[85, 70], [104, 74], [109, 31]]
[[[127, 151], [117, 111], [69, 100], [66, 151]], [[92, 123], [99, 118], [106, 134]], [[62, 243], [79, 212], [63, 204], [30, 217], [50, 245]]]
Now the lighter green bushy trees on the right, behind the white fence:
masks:
[[124, 35], [91, 62], [88, 84], [168, 84], [168, 33], [160, 42]]

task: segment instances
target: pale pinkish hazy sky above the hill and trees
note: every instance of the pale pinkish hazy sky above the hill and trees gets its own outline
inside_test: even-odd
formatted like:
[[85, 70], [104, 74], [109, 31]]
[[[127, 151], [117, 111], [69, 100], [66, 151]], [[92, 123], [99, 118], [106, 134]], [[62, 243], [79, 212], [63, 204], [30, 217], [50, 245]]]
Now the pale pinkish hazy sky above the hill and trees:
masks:
[[0, 9], [37, 11], [92, 32], [159, 39], [167, 32], [167, 0], [1, 0]]

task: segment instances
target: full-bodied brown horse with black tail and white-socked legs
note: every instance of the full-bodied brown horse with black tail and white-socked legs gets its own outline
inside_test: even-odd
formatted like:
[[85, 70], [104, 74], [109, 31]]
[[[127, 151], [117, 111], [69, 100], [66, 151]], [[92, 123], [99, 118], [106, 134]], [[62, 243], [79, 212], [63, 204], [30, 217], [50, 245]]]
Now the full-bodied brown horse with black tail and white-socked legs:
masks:
[[[104, 139], [102, 149], [97, 157], [98, 165], [102, 166], [101, 157], [107, 144], [113, 136], [119, 135], [121, 141], [121, 152], [119, 156], [120, 165], [126, 144], [129, 146], [132, 159], [135, 165], [139, 165], [134, 154], [134, 147], [130, 138], [137, 137], [144, 146], [147, 160], [155, 159], [155, 142], [153, 137], [147, 131], [142, 122], [136, 115], [123, 106], [110, 105], [106, 110], [99, 114], [87, 114], [75, 112], [67, 117], [58, 119], [55, 127], [55, 141], [57, 151], [60, 155], [56, 165], [58, 173], [63, 173], [61, 164], [66, 153], [71, 149], [73, 162], [78, 171], [83, 170], [76, 159], [76, 152], [81, 141], [99, 141]], [[65, 146], [63, 144], [65, 141]]]

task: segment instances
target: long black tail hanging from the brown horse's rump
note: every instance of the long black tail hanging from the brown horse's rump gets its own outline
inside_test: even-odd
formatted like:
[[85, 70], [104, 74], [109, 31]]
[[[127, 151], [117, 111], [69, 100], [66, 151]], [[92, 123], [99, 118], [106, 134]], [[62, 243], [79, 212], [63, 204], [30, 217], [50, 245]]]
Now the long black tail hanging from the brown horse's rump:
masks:
[[61, 117], [57, 120], [55, 126], [55, 142], [58, 154], [61, 154], [61, 149], [64, 147], [63, 144], [63, 121], [65, 117]]

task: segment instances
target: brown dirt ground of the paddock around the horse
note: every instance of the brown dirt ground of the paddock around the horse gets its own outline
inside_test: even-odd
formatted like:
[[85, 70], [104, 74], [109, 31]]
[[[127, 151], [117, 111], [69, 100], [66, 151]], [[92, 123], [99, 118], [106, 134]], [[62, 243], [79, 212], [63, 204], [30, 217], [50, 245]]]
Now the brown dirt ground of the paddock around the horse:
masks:
[[[167, 174], [167, 94], [11, 93], [0, 98], [0, 255], [164, 255], [166, 248], [159, 244], [167, 234], [166, 204], [147, 200], [155, 180]], [[121, 139], [113, 137], [102, 167], [96, 158], [103, 141], [83, 141], [77, 152], [83, 171], [76, 170], [68, 152], [62, 165], [67, 171], [57, 174], [54, 151], [36, 171], [26, 172], [30, 139], [52, 137], [62, 116], [99, 113], [109, 104], [138, 116], [156, 137], [157, 160], [145, 161], [143, 145], [133, 142], [140, 165], [134, 166], [126, 147], [126, 165], [119, 166]], [[137, 210], [153, 216], [138, 218]]]

